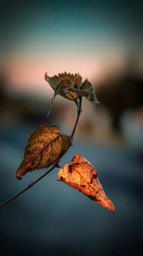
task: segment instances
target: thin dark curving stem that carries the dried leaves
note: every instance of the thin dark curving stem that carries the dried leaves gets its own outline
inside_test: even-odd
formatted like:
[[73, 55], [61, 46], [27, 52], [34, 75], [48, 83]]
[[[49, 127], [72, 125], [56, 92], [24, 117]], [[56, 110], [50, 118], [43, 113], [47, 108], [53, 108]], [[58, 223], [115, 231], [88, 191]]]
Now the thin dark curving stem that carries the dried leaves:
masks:
[[[79, 122], [79, 116], [81, 114], [81, 105], [82, 105], [82, 97], [79, 97], [79, 108], [78, 108], [78, 115], [76, 118], [76, 123], [74, 125], [73, 131], [70, 135], [70, 139], [71, 141], [73, 140], [75, 131], [76, 131], [76, 127], [77, 124]], [[49, 172], [51, 172], [54, 168], [59, 167], [58, 163], [59, 161], [62, 159], [62, 157], [50, 168], [50, 170], [48, 170], [48, 172], [45, 172], [45, 174], [43, 174], [41, 177], [39, 177], [37, 180], [35, 180], [34, 182], [31, 182], [25, 189], [23, 189], [22, 191], [20, 191], [19, 193], [17, 193], [16, 195], [14, 195], [12, 198], [9, 198], [7, 201], [5, 201], [3, 204], [0, 204], [0, 207], [3, 207], [5, 204], [8, 204], [10, 201], [12, 201], [14, 198], [17, 198], [19, 195], [23, 194], [26, 190], [30, 189], [32, 186], [34, 186], [34, 184], [36, 184], [39, 180], [42, 180], [42, 178], [44, 178], [46, 175], [48, 175]]]

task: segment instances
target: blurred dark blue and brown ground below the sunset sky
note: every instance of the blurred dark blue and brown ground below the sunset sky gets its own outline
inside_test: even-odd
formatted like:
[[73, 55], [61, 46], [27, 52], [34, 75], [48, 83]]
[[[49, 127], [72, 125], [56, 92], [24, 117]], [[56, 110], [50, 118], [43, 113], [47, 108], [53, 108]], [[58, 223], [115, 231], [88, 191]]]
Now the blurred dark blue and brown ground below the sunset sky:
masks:
[[[109, 81], [98, 87], [96, 94], [101, 105], [83, 100], [73, 147], [60, 165], [70, 163], [75, 153], [90, 161], [98, 171], [105, 193], [115, 204], [115, 214], [58, 182], [58, 169], [54, 169], [1, 209], [2, 255], [10, 255], [11, 251], [15, 255], [141, 255], [143, 80], [137, 77], [131, 80], [125, 74], [113, 81], [111, 89]], [[133, 86], [135, 101], [130, 93]], [[47, 117], [50, 98], [8, 93], [2, 76], [0, 104], [0, 201], [3, 202], [45, 172], [45, 169], [34, 171], [22, 181], [16, 180], [15, 171], [31, 131], [48, 123], [59, 125], [62, 132], [70, 135], [76, 120], [76, 105], [57, 96]]]

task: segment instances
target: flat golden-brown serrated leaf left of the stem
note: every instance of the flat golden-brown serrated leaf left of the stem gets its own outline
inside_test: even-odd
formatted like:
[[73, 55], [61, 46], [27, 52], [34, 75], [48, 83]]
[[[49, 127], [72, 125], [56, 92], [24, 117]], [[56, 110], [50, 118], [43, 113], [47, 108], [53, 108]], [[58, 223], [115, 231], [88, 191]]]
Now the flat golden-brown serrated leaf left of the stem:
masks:
[[61, 134], [57, 125], [41, 125], [29, 136], [17, 179], [27, 172], [48, 168], [61, 158], [72, 145], [70, 137]]

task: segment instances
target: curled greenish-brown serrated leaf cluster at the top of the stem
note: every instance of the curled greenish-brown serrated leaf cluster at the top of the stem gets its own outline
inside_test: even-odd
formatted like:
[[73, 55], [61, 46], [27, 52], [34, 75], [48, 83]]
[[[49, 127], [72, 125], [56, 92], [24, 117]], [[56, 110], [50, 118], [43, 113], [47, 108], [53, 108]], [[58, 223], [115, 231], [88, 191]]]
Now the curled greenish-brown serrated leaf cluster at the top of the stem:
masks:
[[85, 96], [92, 103], [99, 104], [95, 96], [92, 84], [88, 81], [88, 79], [85, 79], [84, 83], [82, 83], [82, 77], [79, 75], [79, 73], [73, 75], [64, 72], [62, 74], [59, 73], [58, 76], [54, 75], [51, 77], [48, 76], [47, 73], [45, 73], [44, 78], [46, 81], [48, 81], [48, 83], [54, 90], [50, 109], [57, 94], [66, 99], [76, 102], [76, 105], [78, 105], [79, 95]]

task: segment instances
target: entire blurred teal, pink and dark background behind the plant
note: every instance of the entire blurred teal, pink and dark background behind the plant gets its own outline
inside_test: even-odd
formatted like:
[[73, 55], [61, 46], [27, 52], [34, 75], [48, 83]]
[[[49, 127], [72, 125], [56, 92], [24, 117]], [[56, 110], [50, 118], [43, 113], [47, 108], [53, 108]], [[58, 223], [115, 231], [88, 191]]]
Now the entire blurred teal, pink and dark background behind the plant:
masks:
[[16, 179], [29, 134], [42, 123], [71, 134], [76, 104], [48, 76], [78, 73], [100, 105], [83, 99], [73, 146], [98, 171], [115, 214], [58, 182], [54, 169], [0, 210], [4, 255], [142, 255], [143, 4], [135, 1], [12, 1], [0, 15], [0, 201], [46, 172]]

